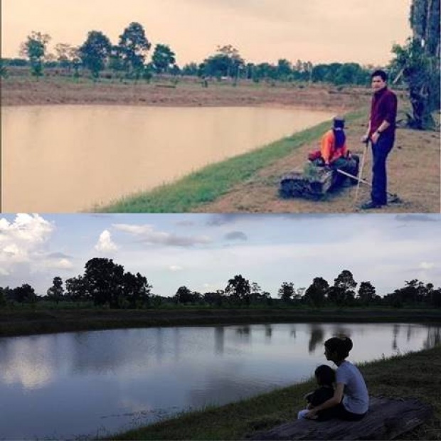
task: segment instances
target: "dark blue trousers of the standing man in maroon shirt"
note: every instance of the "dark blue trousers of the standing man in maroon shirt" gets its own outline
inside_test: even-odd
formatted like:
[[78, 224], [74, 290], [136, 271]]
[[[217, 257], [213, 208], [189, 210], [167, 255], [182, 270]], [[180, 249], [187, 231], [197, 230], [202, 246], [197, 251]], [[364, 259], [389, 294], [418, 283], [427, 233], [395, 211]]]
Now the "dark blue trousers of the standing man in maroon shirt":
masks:
[[388, 203], [387, 185], [388, 178], [386, 173], [386, 159], [392, 150], [395, 142], [395, 135], [381, 134], [376, 144], [372, 143], [372, 191], [371, 198], [373, 203], [386, 205]]

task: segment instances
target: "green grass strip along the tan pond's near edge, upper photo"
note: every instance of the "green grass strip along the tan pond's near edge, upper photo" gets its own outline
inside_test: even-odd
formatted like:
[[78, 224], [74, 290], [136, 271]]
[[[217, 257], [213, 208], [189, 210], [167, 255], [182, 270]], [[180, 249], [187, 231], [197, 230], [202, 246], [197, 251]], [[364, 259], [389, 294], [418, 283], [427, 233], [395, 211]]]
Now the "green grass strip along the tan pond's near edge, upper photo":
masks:
[[[366, 118], [366, 110], [346, 115], [347, 122]], [[260, 169], [293, 150], [318, 139], [329, 129], [330, 122], [280, 139], [253, 152], [211, 164], [172, 184], [165, 184], [146, 193], [127, 196], [108, 206], [96, 207], [104, 213], [186, 213], [223, 196], [233, 186], [247, 181]]]

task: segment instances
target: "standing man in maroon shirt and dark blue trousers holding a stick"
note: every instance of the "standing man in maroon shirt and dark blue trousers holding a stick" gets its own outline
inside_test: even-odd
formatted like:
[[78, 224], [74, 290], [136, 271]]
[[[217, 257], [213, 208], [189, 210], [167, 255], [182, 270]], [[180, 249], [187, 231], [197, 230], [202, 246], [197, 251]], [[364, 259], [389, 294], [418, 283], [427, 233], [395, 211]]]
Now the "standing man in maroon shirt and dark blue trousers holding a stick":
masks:
[[388, 89], [388, 75], [383, 70], [371, 74], [373, 97], [368, 131], [362, 141], [372, 142], [372, 192], [371, 201], [361, 208], [381, 208], [388, 202], [386, 187], [386, 159], [395, 142], [397, 97]]

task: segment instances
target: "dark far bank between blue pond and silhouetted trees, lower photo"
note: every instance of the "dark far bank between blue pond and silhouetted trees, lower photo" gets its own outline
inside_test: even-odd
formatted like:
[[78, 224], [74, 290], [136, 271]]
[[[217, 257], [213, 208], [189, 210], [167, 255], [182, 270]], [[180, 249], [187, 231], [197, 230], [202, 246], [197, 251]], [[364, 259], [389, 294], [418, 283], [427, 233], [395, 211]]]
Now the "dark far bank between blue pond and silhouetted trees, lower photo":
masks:
[[262, 323], [440, 323], [441, 309], [0, 309], [0, 336], [151, 326]]

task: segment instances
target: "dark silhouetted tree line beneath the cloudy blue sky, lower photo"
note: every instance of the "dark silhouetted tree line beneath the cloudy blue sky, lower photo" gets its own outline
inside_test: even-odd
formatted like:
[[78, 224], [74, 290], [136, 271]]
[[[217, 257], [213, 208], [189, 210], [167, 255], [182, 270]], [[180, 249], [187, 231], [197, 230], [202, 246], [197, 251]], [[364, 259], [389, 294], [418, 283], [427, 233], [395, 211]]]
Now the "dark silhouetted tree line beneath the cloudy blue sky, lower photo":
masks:
[[122, 265], [112, 259], [94, 257], [85, 264], [83, 275], [63, 280], [53, 278], [53, 285], [46, 295], [39, 296], [27, 283], [21, 287], [0, 287], [0, 307], [49, 301], [55, 304], [90, 304], [112, 309], [142, 309], [169, 305], [200, 305], [206, 307], [252, 307], [253, 305], [282, 304], [287, 307], [368, 307], [378, 306], [425, 306], [441, 307], [441, 287], [418, 279], [405, 281], [405, 286], [395, 289], [384, 297], [376, 293], [369, 281], [354, 280], [351, 271], [343, 270], [330, 285], [323, 277], [314, 277], [309, 287], [294, 286], [294, 282], [282, 282], [277, 291], [278, 299], [272, 298], [257, 282], [250, 282], [243, 275], [228, 280], [224, 289], [200, 293], [181, 286], [171, 297], [161, 297], [152, 292], [152, 285], [139, 272], [126, 272]]

